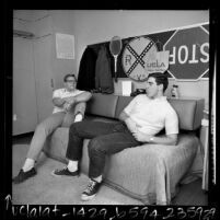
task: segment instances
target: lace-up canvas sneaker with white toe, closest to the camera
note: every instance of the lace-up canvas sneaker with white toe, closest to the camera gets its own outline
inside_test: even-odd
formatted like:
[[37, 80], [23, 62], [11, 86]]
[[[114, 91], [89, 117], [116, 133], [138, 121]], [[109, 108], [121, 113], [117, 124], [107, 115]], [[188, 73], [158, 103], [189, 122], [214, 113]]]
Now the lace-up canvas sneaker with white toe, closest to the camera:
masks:
[[101, 184], [102, 183], [99, 183], [94, 180], [90, 180], [88, 187], [82, 193], [81, 199], [83, 201], [86, 201], [86, 200], [94, 198], [100, 189]]

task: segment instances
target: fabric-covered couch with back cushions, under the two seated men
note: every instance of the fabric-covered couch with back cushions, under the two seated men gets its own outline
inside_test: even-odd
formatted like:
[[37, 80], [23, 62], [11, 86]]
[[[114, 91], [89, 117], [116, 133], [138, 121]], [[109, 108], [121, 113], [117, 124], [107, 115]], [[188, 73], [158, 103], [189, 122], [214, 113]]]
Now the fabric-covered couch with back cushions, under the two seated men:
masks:
[[[88, 102], [86, 120], [112, 123], [118, 120], [131, 96], [94, 93]], [[202, 99], [169, 99], [180, 119], [176, 146], [144, 143], [106, 157], [103, 183], [115, 190], [141, 200], [144, 205], [170, 205], [178, 192], [178, 184], [187, 176], [199, 147]], [[66, 150], [69, 128], [59, 127], [44, 146], [47, 157], [67, 163]], [[159, 134], [163, 136], [164, 134]], [[83, 142], [81, 171], [88, 174], [89, 139]]]

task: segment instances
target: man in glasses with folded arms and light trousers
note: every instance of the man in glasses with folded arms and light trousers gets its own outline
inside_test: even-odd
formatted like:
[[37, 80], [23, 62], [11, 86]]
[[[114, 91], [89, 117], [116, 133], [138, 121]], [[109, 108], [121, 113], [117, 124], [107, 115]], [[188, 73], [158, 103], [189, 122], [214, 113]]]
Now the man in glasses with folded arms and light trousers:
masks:
[[13, 178], [15, 184], [36, 175], [35, 162], [39, 157], [46, 138], [56, 128], [69, 127], [72, 123], [83, 119], [85, 102], [91, 99], [92, 94], [76, 89], [77, 80], [74, 74], [65, 76], [63, 83], [63, 89], [54, 91], [53, 103], [55, 107], [53, 114], [37, 125], [35, 129], [24, 165], [19, 175]]

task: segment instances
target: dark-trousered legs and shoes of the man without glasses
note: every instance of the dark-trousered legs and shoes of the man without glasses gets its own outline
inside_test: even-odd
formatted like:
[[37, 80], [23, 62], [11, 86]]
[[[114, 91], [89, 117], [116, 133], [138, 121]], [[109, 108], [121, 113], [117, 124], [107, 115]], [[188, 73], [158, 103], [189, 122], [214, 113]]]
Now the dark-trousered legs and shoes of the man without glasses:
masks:
[[82, 157], [83, 139], [91, 139], [88, 146], [90, 166], [90, 182], [82, 193], [81, 199], [93, 198], [102, 182], [105, 166], [105, 157], [120, 152], [126, 148], [139, 146], [132, 134], [123, 123], [86, 121], [72, 124], [69, 129], [69, 141], [66, 157], [69, 159], [67, 167], [56, 170], [55, 175], [79, 175], [80, 160]]

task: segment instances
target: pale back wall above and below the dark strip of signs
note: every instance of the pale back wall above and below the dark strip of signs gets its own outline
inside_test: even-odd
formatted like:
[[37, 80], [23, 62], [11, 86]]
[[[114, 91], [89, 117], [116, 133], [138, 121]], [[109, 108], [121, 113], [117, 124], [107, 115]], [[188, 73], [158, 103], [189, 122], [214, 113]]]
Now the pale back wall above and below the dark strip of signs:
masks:
[[[139, 36], [161, 31], [167, 31], [180, 26], [209, 22], [209, 11], [73, 11], [74, 22], [77, 71], [80, 59], [86, 45], [109, 40], [118, 35], [121, 38]], [[120, 93], [121, 80], [115, 83], [115, 92]], [[175, 80], [170, 80], [166, 95]], [[208, 107], [208, 80], [197, 82], [177, 82], [181, 96], [198, 96], [206, 100]], [[136, 88], [144, 88], [144, 83], [136, 83]]]

